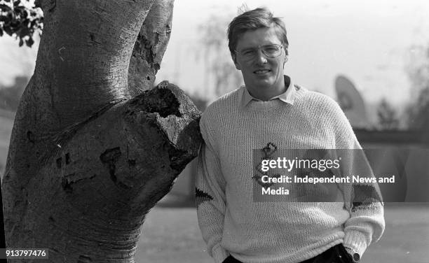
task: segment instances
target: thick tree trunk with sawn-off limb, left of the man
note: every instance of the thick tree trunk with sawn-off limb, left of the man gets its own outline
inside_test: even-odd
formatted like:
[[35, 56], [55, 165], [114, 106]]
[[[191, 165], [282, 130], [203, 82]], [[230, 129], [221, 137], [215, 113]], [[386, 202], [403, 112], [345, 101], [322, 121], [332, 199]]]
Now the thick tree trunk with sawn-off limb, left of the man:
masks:
[[172, 0], [39, 4], [2, 185], [7, 246], [49, 248], [48, 262], [134, 262], [145, 214], [200, 144], [189, 98], [167, 82], [150, 89]]

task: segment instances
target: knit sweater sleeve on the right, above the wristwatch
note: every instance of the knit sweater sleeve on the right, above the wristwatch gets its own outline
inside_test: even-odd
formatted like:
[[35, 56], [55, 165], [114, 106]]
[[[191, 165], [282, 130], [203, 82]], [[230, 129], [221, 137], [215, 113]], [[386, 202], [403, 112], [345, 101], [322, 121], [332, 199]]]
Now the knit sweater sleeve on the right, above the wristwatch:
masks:
[[[336, 104], [336, 148], [343, 149], [346, 159], [343, 173], [347, 176], [373, 178], [370, 183], [352, 183], [344, 191], [345, 207], [350, 218], [344, 224], [343, 245], [362, 257], [370, 243], [379, 241], [385, 229], [383, 201], [379, 185], [341, 108]], [[346, 150], [350, 149], [350, 150]]]

